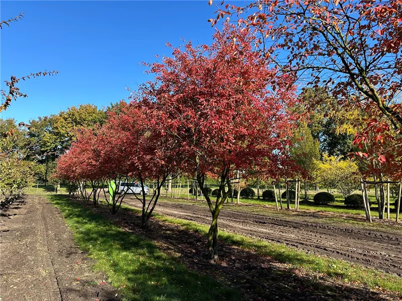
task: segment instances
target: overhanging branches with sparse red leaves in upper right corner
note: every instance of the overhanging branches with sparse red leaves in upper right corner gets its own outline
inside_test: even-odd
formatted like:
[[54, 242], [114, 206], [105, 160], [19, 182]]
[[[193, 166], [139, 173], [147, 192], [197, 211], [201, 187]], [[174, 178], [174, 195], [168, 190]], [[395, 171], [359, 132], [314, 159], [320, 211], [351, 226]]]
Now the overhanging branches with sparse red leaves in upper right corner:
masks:
[[401, 0], [225, 3], [217, 2], [213, 25], [229, 18], [250, 29], [260, 51], [283, 72], [297, 73], [308, 86], [326, 86], [341, 104], [373, 106], [394, 128], [402, 128], [397, 99], [402, 89]]

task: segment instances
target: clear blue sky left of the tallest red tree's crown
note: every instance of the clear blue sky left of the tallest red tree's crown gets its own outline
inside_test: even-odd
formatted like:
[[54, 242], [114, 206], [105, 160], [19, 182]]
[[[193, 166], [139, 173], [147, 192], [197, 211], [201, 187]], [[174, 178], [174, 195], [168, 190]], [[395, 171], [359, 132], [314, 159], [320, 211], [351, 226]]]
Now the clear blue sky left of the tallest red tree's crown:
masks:
[[28, 98], [1, 118], [28, 122], [72, 105], [107, 106], [149, 77], [142, 62], [170, 55], [181, 39], [210, 44], [207, 22], [216, 8], [201, 1], [5, 1], [0, 19], [24, 19], [0, 30], [0, 82], [10, 75], [58, 70], [53, 77], [21, 82]]

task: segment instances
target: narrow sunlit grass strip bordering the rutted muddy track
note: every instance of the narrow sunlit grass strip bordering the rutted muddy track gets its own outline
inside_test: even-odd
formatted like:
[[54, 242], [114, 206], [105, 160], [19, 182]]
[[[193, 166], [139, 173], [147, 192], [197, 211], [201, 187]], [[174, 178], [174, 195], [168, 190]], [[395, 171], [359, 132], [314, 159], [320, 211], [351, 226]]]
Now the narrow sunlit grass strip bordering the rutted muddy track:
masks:
[[[130, 207], [125, 207], [124, 209], [139, 213], [139, 210]], [[194, 231], [203, 235], [208, 234], [209, 227], [206, 225], [200, 225], [182, 219], [170, 218], [160, 214], [154, 214], [153, 216], [160, 221], [180, 225], [186, 230]], [[398, 292], [402, 295], [402, 278], [396, 275], [366, 268], [362, 265], [352, 264], [339, 259], [308, 254], [304, 251], [287, 247], [283, 244], [270, 243], [229, 233], [223, 230], [219, 232], [219, 239], [220, 241], [224, 241], [230, 245], [269, 256], [279, 262], [289, 263], [293, 268], [304, 269], [312, 273], [318, 272], [345, 282], [363, 283], [372, 289], [381, 287], [382, 289]]]

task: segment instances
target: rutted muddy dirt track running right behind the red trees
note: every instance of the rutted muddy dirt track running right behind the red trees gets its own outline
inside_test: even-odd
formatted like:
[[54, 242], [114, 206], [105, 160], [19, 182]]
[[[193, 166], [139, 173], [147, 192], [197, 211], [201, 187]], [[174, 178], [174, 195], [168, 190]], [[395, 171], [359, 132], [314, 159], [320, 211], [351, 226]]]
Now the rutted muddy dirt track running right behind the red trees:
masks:
[[[132, 197], [124, 201], [139, 208]], [[160, 202], [155, 212], [209, 225], [211, 214], [206, 207]], [[402, 274], [402, 234], [331, 226], [228, 211], [219, 216], [219, 227], [229, 232], [283, 243], [330, 257], [341, 258], [367, 267]]]

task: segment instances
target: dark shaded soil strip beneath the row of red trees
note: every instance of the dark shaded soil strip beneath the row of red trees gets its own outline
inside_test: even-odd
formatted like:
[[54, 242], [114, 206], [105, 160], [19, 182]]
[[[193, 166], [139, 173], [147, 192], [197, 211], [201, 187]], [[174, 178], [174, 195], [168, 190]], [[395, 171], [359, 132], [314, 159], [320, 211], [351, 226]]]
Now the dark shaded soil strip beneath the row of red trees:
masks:
[[[207, 238], [204, 235], [155, 219], [152, 220], [149, 230], [141, 230], [141, 217], [131, 210], [122, 208], [117, 215], [111, 215], [106, 206], [100, 205], [97, 208], [93, 208], [89, 204], [82, 202], [81, 204], [128, 231], [127, 235], [132, 232], [153, 240], [157, 243], [159, 249], [177, 257], [190, 270], [212, 275], [227, 285], [240, 289], [246, 299], [259, 301], [387, 300], [378, 292], [362, 287], [343, 285], [336, 281], [330, 282], [331, 280], [328, 279], [303, 275], [300, 272], [289, 270], [285, 264], [276, 262], [267, 256], [245, 251], [223, 242], [220, 243], [219, 250], [221, 262], [211, 264], [206, 254]], [[97, 233], [95, 236], [90, 239], [96, 240], [100, 238], [100, 243], [110, 243], [108, 242], [111, 239], [110, 235]], [[144, 244], [144, 241], [133, 243]], [[133, 251], [132, 246], [122, 245], [121, 247], [127, 251]], [[155, 250], [154, 245], [147, 245], [146, 248], [153, 256], [161, 256], [159, 251]], [[286, 255], [283, 254], [283, 256], [282, 261], [286, 261]], [[307, 259], [300, 258], [300, 260], [306, 261]], [[129, 281], [138, 281], [138, 276], [135, 271], [128, 270], [127, 279]], [[207, 299], [218, 300], [219, 298], [216, 297], [210, 296]]]

